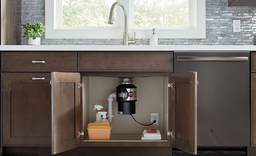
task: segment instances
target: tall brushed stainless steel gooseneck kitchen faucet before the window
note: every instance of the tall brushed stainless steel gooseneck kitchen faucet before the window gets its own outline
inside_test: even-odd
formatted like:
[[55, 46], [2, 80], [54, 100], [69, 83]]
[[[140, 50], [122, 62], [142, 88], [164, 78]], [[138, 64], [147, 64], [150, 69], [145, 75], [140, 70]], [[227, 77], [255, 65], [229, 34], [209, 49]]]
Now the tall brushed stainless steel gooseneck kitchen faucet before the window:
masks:
[[113, 16], [114, 16], [114, 8], [116, 5], [120, 5], [124, 11], [124, 45], [128, 45], [129, 43], [135, 43], [135, 35], [136, 32], [134, 32], [134, 38], [133, 39], [129, 39], [129, 35], [128, 35], [128, 28], [127, 28], [127, 10], [124, 6], [123, 3], [121, 2], [115, 2], [113, 3], [111, 9], [110, 9], [110, 13], [109, 13], [109, 24], [113, 24]]

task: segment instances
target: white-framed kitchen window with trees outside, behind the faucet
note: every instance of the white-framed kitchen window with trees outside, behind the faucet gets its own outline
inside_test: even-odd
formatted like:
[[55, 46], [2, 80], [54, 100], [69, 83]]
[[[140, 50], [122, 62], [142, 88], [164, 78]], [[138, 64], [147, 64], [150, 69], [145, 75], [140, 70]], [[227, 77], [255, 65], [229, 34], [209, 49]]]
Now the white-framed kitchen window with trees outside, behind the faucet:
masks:
[[[79, 3], [72, 4], [71, 0], [46, 0], [45, 38], [122, 39], [124, 15], [120, 6], [114, 9], [114, 24], [107, 24], [110, 7], [115, 0], [87, 1], [76, 0]], [[156, 3], [158, 1], [161, 3]], [[156, 28], [160, 39], [205, 38], [204, 0], [158, 1], [121, 0], [127, 10], [130, 38], [133, 38], [134, 31], [137, 39], [149, 38], [152, 28]], [[97, 10], [99, 6], [108, 13]], [[96, 9], [88, 10], [90, 8]]]

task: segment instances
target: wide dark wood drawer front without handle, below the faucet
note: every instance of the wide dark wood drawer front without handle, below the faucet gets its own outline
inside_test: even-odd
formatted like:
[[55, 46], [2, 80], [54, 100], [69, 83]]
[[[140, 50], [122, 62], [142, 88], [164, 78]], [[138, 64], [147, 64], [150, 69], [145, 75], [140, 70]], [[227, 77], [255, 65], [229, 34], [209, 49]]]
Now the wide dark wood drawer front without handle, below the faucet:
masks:
[[80, 52], [78, 71], [172, 72], [173, 52]]

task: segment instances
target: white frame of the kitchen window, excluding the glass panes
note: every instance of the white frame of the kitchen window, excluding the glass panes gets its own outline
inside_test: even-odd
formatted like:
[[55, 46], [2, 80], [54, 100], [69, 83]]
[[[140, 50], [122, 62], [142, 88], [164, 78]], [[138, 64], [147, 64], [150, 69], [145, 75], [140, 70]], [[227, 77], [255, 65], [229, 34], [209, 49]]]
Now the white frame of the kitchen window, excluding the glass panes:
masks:
[[[132, 1], [132, 0], [129, 0]], [[134, 7], [133, 3], [127, 0], [122, 0], [127, 9], [128, 14], [128, 33], [129, 37], [133, 38], [136, 31], [137, 39], [147, 39], [152, 34], [152, 28], [136, 28], [130, 26], [130, 12]], [[206, 38], [206, 22], [205, 22], [205, 0], [189, 0], [194, 2], [193, 11], [193, 26], [190, 29], [160, 29], [156, 28], [156, 34], [159, 39], [205, 39]], [[117, 20], [121, 20], [121, 29], [117, 24], [118, 29], [113, 28], [92, 28], [85, 29], [59, 29], [58, 28], [58, 0], [45, 0], [45, 38], [50, 39], [122, 39], [124, 33], [124, 15], [120, 6], [117, 10]], [[120, 16], [121, 15], [121, 16]], [[134, 15], [134, 14], [133, 14]], [[108, 20], [108, 19], [106, 19]]]

